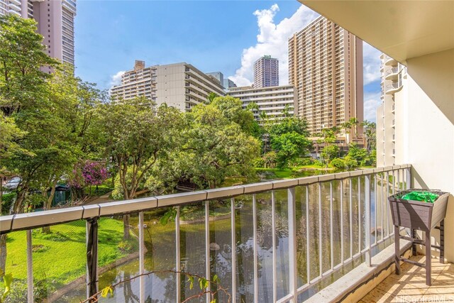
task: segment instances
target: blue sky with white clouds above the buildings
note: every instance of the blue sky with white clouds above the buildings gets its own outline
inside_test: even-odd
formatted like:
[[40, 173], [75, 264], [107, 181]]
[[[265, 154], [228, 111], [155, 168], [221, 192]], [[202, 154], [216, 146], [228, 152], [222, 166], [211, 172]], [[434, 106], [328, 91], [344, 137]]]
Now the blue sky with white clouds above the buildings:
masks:
[[[253, 61], [269, 54], [279, 58], [285, 84], [287, 38], [317, 16], [298, 1], [79, 0], [76, 73], [106, 89], [136, 59], [147, 66], [184, 61], [245, 85], [250, 84]], [[377, 54], [365, 45], [367, 119], [380, 100]]]

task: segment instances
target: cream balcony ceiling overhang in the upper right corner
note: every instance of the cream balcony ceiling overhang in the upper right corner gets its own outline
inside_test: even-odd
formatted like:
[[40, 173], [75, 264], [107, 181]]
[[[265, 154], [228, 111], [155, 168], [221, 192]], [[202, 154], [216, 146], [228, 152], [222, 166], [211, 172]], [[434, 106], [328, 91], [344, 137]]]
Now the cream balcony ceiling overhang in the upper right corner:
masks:
[[402, 64], [454, 48], [454, 1], [299, 2]]

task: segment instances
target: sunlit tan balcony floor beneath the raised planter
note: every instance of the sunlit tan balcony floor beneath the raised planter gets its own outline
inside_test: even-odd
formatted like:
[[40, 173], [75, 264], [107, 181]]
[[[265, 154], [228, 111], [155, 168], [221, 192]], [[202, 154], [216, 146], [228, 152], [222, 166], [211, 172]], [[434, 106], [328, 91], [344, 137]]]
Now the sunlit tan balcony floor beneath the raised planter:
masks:
[[[416, 255], [411, 260], [426, 262], [426, 256]], [[377, 287], [363, 297], [370, 302], [454, 302], [454, 264], [441, 264], [432, 258], [432, 285], [426, 285], [425, 270], [404, 263], [401, 275], [392, 272]]]

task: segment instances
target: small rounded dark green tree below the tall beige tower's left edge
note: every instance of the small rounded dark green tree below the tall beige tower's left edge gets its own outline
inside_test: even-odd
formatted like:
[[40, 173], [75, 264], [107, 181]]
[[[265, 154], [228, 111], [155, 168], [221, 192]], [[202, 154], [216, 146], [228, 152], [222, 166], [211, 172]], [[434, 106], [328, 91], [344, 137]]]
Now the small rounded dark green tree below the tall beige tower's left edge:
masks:
[[292, 131], [273, 136], [271, 146], [277, 153], [278, 167], [289, 167], [291, 162], [309, 153], [311, 141], [300, 133]]

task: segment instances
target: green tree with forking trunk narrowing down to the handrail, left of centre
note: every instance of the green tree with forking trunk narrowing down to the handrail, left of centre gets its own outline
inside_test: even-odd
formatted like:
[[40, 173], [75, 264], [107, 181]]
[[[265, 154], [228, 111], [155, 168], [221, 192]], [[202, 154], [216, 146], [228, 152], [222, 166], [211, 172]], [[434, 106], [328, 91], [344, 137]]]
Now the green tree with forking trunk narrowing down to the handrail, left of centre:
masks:
[[123, 198], [133, 199], [160, 154], [175, 147], [182, 114], [138, 97], [103, 104], [99, 116], [104, 155], [116, 165]]

